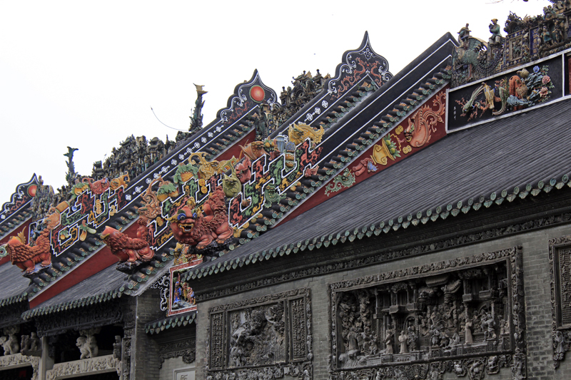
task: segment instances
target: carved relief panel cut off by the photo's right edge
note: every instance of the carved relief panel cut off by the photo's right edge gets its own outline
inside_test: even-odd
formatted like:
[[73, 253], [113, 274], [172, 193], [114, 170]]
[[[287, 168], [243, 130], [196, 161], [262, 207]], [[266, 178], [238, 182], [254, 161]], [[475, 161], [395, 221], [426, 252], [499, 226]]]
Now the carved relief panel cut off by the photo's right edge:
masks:
[[571, 348], [571, 236], [549, 242], [553, 364], [557, 369]]

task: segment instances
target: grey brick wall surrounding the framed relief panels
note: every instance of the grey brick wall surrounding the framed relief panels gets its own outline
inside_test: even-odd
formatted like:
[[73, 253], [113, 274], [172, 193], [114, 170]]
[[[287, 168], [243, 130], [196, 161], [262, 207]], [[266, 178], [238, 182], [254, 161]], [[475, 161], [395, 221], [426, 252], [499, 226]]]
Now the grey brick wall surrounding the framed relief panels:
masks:
[[[283, 292], [288, 289], [310, 287], [312, 299], [312, 329], [313, 329], [313, 379], [328, 379], [328, 357], [330, 356], [328, 312], [330, 309], [327, 297], [327, 284], [343, 279], [364, 277], [378, 272], [389, 272], [406, 267], [414, 267], [427, 262], [438, 262], [453, 257], [476, 255], [481, 252], [502, 250], [517, 245], [522, 246], [523, 272], [525, 286], [525, 308], [527, 318], [527, 375], [530, 380], [569, 379], [571, 373], [571, 353], [562, 361], [557, 371], [553, 367], [550, 302], [550, 265], [549, 240], [554, 237], [571, 235], [571, 226], [553, 227], [546, 230], [529, 232], [522, 235], [505, 237], [490, 242], [482, 242], [468, 247], [435, 252], [421, 257], [411, 257], [405, 260], [388, 262], [362, 269], [327, 274], [311, 279], [300, 279], [285, 284], [278, 284], [264, 289], [235, 294], [232, 297], [213, 299], [198, 304], [196, 379], [205, 380], [206, 366], [208, 309], [219, 305], [235, 302], [236, 299], [250, 299], [266, 294]], [[350, 243], [348, 243], [350, 244]], [[311, 252], [305, 253], [311, 255]], [[491, 379], [511, 379], [510, 369], [502, 369], [499, 374], [488, 376]], [[456, 379], [453, 374], [445, 374], [445, 379]]]

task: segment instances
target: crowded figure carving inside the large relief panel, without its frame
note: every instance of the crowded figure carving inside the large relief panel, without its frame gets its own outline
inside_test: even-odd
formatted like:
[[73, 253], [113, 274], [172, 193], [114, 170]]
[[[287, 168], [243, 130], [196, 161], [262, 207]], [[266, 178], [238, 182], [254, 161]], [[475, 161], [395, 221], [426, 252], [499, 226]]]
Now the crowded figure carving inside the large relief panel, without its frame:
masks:
[[[501, 264], [337, 292], [337, 366], [510, 349], [509, 287]], [[472, 372], [486, 362], [478, 361]]]

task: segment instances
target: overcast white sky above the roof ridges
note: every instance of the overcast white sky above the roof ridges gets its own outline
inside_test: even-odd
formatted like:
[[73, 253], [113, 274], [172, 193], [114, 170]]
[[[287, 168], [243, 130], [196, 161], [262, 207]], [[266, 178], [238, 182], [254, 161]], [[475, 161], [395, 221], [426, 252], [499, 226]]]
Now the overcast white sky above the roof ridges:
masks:
[[205, 85], [204, 124], [258, 68], [279, 95], [303, 70], [333, 75], [365, 31], [398, 73], [446, 32], [542, 13], [544, 0], [24, 1], [0, 0], [0, 205], [33, 173], [65, 183], [128, 135], [186, 130]]

